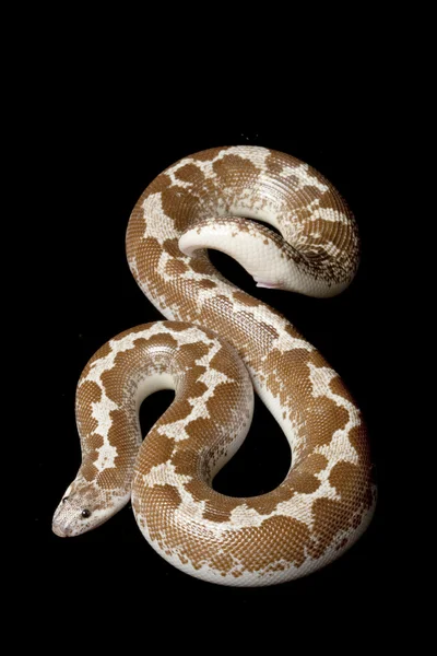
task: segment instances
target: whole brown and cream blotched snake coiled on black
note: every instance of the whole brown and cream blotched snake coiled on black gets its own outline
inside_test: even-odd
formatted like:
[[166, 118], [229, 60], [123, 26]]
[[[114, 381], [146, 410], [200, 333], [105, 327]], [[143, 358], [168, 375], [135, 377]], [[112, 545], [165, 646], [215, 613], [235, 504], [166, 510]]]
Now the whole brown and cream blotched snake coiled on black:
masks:
[[[82, 465], [52, 529], [82, 534], [131, 499], [145, 539], [179, 570], [224, 585], [282, 583], [333, 561], [368, 526], [366, 429], [320, 353], [224, 279], [206, 248], [237, 259], [258, 286], [312, 296], [347, 286], [359, 257], [345, 201], [287, 154], [217, 148], [158, 175], [131, 214], [127, 255], [167, 320], [118, 335], [82, 373]], [[226, 496], [212, 480], [246, 437], [252, 386], [288, 440], [292, 466], [267, 494]], [[140, 405], [164, 388], [175, 400], [142, 441]]]

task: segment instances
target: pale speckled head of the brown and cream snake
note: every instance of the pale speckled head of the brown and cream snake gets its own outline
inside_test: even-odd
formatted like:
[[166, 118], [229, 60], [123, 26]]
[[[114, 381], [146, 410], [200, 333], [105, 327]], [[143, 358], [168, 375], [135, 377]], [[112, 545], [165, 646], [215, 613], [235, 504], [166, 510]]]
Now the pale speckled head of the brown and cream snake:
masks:
[[129, 496], [105, 495], [94, 483], [79, 478], [66, 490], [55, 511], [51, 529], [60, 538], [80, 536], [101, 526], [128, 501]]

